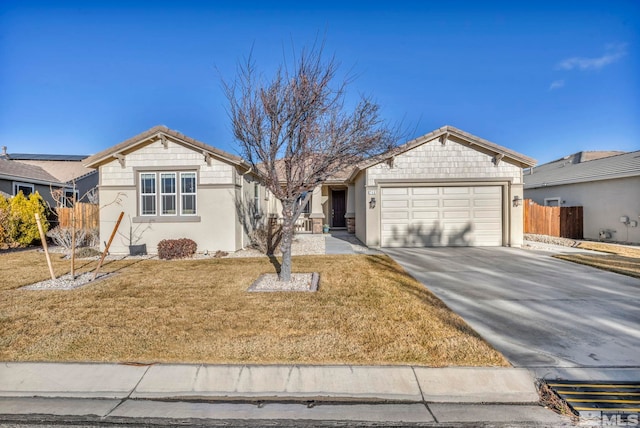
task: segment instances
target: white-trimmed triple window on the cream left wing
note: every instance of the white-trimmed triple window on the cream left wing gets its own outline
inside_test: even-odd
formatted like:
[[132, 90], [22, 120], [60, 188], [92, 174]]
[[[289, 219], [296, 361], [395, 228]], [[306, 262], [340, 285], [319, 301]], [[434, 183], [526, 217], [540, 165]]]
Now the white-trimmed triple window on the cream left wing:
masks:
[[140, 216], [197, 214], [197, 176], [192, 171], [141, 172]]

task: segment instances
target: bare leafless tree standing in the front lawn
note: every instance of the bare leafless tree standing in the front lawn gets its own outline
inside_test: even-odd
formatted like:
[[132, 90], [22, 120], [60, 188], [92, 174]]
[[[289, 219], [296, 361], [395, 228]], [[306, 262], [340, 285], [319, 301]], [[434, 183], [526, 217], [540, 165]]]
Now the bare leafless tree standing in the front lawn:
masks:
[[346, 107], [348, 80], [336, 82], [337, 70], [335, 58], [324, 60], [322, 47], [314, 46], [270, 79], [249, 57], [233, 81], [223, 81], [241, 152], [282, 203], [281, 281], [291, 279], [294, 223], [311, 191], [396, 142], [370, 98], [361, 96], [353, 108]]

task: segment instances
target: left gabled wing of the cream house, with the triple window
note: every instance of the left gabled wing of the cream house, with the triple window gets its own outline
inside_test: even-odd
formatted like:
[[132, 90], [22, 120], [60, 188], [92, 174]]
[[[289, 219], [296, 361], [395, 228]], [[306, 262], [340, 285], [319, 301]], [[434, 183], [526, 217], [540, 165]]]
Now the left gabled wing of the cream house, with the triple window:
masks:
[[163, 239], [189, 238], [198, 251], [236, 251], [266, 220], [268, 201], [259, 176], [243, 159], [156, 126], [85, 160], [99, 171], [100, 242], [126, 253]]

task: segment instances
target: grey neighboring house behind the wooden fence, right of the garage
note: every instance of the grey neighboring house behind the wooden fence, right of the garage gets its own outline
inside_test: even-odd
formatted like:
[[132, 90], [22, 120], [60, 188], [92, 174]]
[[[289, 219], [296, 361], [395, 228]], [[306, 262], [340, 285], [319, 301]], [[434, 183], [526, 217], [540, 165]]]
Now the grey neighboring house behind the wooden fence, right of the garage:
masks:
[[582, 206], [586, 239], [640, 243], [640, 151], [580, 152], [525, 172], [525, 197]]

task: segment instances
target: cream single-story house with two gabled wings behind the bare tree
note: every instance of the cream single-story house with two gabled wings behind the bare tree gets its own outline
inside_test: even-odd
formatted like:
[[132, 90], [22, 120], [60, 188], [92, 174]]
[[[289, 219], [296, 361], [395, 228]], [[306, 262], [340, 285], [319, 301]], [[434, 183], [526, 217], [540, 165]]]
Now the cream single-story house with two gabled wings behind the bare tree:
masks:
[[[312, 191], [299, 231], [346, 229], [371, 247], [521, 246], [522, 169], [535, 161], [451, 126], [412, 140]], [[281, 217], [279, 201], [241, 158], [158, 126], [85, 162], [100, 176], [100, 241], [110, 249], [190, 238], [236, 251]], [[124, 236], [123, 236], [124, 235]]]

